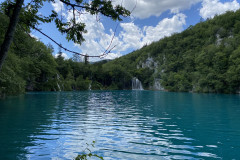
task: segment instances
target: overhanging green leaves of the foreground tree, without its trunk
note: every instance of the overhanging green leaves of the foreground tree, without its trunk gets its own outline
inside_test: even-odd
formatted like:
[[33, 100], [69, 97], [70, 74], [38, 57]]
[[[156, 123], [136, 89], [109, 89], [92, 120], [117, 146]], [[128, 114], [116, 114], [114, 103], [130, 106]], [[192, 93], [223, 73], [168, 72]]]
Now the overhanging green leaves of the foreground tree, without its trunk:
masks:
[[[69, 12], [72, 12], [71, 19], [67, 19], [62, 16], [62, 13], [57, 13], [54, 10], [48, 16], [39, 14], [39, 10], [45, 3], [55, 3], [54, 0], [31, 0], [22, 7], [19, 24], [30, 31], [30, 28], [36, 28], [40, 23], [55, 22], [56, 28], [66, 35], [67, 40], [71, 40], [74, 43], [81, 44], [84, 41], [83, 33], [86, 33], [86, 24], [82, 23], [79, 19], [82, 14], [89, 13], [92, 15], [101, 14], [109, 17], [112, 20], [121, 21], [122, 17], [130, 15], [130, 11], [126, 10], [120, 5], [113, 5], [110, 0], [60, 0], [63, 3], [63, 7], [67, 8]], [[11, 16], [14, 9], [14, 1], [7, 0], [1, 4], [4, 14]], [[46, 4], [45, 4], [46, 5]], [[63, 8], [63, 9], [64, 9]], [[78, 19], [77, 19], [78, 18]]]

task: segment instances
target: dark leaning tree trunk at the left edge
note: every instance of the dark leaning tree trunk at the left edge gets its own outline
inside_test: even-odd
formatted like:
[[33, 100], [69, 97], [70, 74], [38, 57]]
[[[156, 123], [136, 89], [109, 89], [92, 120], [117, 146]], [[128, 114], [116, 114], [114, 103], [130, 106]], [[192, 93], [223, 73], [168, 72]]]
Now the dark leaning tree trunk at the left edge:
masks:
[[18, 20], [19, 20], [19, 15], [20, 15], [20, 11], [21, 11], [23, 2], [24, 2], [24, 0], [17, 0], [16, 1], [15, 7], [14, 7], [14, 10], [13, 10], [13, 14], [12, 14], [12, 17], [11, 17], [9, 25], [8, 25], [8, 29], [7, 29], [7, 32], [5, 34], [4, 41], [3, 41], [2, 45], [1, 45], [1, 48], [0, 48], [0, 71], [1, 71], [2, 66], [3, 66], [3, 62], [7, 57], [8, 49], [11, 45], [13, 35], [14, 35], [15, 30], [16, 30], [16, 26], [17, 26], [17, 23], [18, 23]]

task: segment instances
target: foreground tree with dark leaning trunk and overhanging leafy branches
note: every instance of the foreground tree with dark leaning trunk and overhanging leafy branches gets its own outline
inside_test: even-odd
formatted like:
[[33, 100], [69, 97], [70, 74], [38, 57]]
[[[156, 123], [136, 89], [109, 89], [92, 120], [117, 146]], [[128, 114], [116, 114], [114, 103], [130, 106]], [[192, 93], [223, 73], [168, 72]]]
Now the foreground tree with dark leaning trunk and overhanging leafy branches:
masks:
[[[83, 1], [83, 0], [60, 0], [65, 6], [71, 8], [73, 13], [73, 18], [69, 21], [63, 21], [61, 16], [52, 10], [49, 16], [39, 15], [38, 11], [42, 8], [43, 2], [54, 2], [54, 0], [32, 0], [24, 5], [24, 0], [16, 0], [14, 2], [7, 1], [5, 6], [5, 14], [10, 18], [8, 24], [8, 29], [5, 34], [5, 38], [0, 49], [0, 70], [2, 68], [3, 62], [7, 56], [10, 44], [13, 39], [14, 32], [18, 21], [27, 30], [30, 28], [35, 28], [40, 22], [50, 23], [55, 22], [57, 29], [66, 34], [67, 40], [72, 40], [74, 43], [81, 44], [84, 41], [83, 33], [86, 33], [85, 24], [76, 21], [76, 12], [82, 13], [83, 10], [86, 12], [97, 15], [102, 14], [106, 17], [110, 17], [112, 20], [121, 21], [121, 16], [129, 16], [130, 12], [120, 5], [114, 6], [112, 1], [108, 0], [93, 0], [93, 1]], [[35, 28], [36, 29], [36, 28]]]

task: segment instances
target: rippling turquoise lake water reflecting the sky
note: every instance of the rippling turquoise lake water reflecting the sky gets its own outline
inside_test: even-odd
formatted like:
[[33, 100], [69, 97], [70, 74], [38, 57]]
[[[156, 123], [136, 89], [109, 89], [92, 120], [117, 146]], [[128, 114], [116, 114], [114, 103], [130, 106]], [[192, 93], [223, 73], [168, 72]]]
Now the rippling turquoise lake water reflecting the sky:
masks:
[[240, 159], [240, 96], [28, 93], [0, 100], [0, 159]]

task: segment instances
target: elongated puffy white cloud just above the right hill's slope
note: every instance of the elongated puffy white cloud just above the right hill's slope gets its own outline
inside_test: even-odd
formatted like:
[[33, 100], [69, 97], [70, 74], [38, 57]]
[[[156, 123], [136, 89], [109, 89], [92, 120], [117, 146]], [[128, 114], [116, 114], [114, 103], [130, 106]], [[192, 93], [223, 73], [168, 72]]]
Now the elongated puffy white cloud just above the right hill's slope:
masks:
[[172, 18], [164, 18], [156, 26], [145, 26], [140, 29], [134, 23], [122, 23], [123, 31], [120, 33], [122, 40], [122, 50], [129, 48], [139, 49], [145, 44], [158, 41], [165, 36], [181, 32], [186, 24], [186, 16], [182, 13], [174, 15]]

